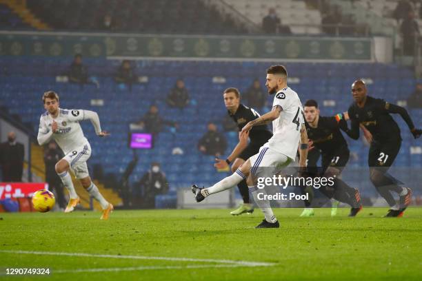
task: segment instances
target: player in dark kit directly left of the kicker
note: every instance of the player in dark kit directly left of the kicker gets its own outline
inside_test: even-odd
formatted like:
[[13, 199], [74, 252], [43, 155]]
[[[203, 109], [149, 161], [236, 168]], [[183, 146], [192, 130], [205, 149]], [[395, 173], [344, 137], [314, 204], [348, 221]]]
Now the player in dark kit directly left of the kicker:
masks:
[[[233, 118], [234, 122], [237, 123], [239, 132], [241, 132], [243, 126], [248, 122], [258, 118], [260, 115], [258, 112], [250, 107], [246, 107], [240, 103], [240, 92], [237, 88], [230, 87], [223, 92], [224, 104], [228, 110], [228, 114]], [[216, 158], [215, 167], [224, 169], [228, 165], [232, 164], [232, 171], [236, 171], [245, 160], [248, 160], [250, 156], [253, 156], [259, 152], [259, 148], [267, 143], [272, 137], [272, 133], [268, 130], [267, 125], [254, 126], [249, 132], [250, 143], [248, 139], [239, 138], [239, 143], [234, 147], [232, 153], [225, 160]], [[236, 216], [243, 213], [252, 213], [254, 211], [252, 204], [250, 204], [249, 189], [246, 184], [246, 180], [242, 180], [239, 185], [240, 194], [243, 198], [243, 204], [236, 210], [230, 212], [230, 214]]]

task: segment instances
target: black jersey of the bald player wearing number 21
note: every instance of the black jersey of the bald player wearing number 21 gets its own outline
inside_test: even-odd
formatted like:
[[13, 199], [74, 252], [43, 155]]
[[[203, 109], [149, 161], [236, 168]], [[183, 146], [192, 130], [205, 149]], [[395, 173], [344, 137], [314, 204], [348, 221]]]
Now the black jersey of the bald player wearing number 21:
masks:
[[363, 107], [352, 103], [348, 110], [352, 129], [356, 129], [356, 126], [359, 127], [359, 124], [362, 124], [377, 142], [401, 140], [399, 125], [390, 115], [390, 113], [395, 113], [390, 110], [390, 107], [393, 106], [395, 105], [390, 105], [381, 98], [372, 98], [371, 96], [367, 96]]

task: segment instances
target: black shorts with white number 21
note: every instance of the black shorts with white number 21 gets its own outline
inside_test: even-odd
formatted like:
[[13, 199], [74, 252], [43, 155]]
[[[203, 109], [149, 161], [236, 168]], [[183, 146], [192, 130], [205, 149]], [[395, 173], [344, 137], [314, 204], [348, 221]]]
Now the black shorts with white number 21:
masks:
[[372, 141], [368, 154], [369, 167], [391, 167], [401, 147], [400, 139]]

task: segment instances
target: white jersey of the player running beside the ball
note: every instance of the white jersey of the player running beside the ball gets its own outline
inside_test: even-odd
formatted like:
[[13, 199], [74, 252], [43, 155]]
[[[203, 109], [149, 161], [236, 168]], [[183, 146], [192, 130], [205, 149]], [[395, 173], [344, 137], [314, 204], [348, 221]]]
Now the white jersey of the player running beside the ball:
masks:
[[64, 154], [72, 152], [77, 147], [86, 145], [88, 140], [83, 136], [79, 121], [84, 120], [84, 110], [63, 110], [59, 108], [59, 115], [52, 118], [49, 112], [45, 112], [39, 119], [39, 134], [50, 132], [53, 121], [56, 121], [57, 131], [52, 134], [52, 138], [63, 150]]

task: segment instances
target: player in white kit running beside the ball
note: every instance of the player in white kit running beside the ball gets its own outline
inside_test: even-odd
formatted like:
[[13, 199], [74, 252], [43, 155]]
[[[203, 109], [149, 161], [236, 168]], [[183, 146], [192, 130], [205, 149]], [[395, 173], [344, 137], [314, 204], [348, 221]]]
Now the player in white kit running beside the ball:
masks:
[[109, 134], [101, 131], [99, 117], [96, 112], [61, 109], [59, 107], [59, 95], [56, 92], [45, 92], [43, 94], [43, 103], [47, 111], [41, 115], [39, 120], [38, 143], [39, 145], [44, 145], [53, 138], [65, 154], [56, 163], [56, 172], [70, 195], [65, 213], [73, 211], [80, 201], [74, 190], [72, 178], [70, 178], [69, 169], [72, 169], [86, 191], [99, 201], [103, 209], [101, 220], [107, 220], [113, 210], [113, 205], [103, 198], [98, 187], [94, 185], [88, 174], [86, 161], [91, 156], [91, 146], [86, 137], [83, 136], [79, 121], [90, 120], [92, 125], [94, 125], [97, 136], [103, 137]]

